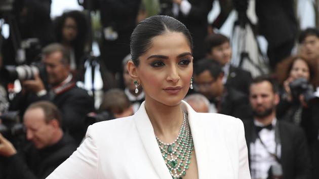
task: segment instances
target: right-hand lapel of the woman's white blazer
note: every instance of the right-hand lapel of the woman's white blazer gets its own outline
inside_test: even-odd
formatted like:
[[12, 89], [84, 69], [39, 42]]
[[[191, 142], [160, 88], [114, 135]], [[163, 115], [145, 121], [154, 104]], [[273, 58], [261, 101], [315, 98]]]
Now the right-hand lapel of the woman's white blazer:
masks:
[[[212, 170], [217, 169], [218, 167], [214, 168], [210, 164], [209, 154], [208, 154], [208, 147], [205, 139], [207, 137], [204, 133], [205, 126], [202, 126], [201, 122], [198, 121], [197, 113], [185, 102], [183, 102], [184, 107], [188, 112], [188, 121], [190, 125], [190, 130], [192, 133], [195, 154], [196, 154], [196, 162], [197, 162], [197, 169], [198, 169], [198, 177], [199, 178], [210, 178]], [[210, 151], [214, 152], [214, 151]]]

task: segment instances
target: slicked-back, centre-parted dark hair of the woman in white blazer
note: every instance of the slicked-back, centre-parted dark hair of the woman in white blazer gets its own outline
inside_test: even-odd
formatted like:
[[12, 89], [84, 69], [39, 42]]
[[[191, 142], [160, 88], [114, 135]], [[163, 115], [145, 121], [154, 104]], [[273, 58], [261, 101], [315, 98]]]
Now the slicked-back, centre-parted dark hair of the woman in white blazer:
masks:
[[193, 40], [184, 24], [169, 16], [151, 16], [138, 23], [131, 35], [130, 48], [134, 65], [139, 65], [138, 58], [150, 48], [152, 38], [166, 32], [183, 33], [190, 49], [193, 49]]

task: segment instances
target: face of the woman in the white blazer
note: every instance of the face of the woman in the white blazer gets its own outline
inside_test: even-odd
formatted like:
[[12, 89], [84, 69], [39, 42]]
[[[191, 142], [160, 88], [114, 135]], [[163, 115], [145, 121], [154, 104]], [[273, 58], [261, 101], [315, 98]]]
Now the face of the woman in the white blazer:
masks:
[[152, 38], [150, 48], [139, 57], [138, 82], [146, 103], [178, 105], [188, 92], [193, 73], [187, 39], [180, 32], [166, 32]]

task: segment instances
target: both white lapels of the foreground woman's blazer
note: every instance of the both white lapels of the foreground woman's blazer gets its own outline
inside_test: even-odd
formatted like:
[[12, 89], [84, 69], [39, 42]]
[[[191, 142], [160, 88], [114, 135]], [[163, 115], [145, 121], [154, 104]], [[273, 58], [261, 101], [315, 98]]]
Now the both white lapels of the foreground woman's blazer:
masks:
[[[207, 157], [208, 151], [206, 143], [205, 140], [203, 140], [206, 139], [203, 126], [201, 126], [200, 122], [196, 122], [197, 113], [184, 101], [182, 101], [182, 109], [188, 113], [188, 121], [190, 130], [192, 132], [196, 154], [198, 177], [209, 178], [211, 169], [208, 165], [210, 162], [209, 158]], [[153, 164], [158, 176], [160, 176], [160, 178], [172, 178], [161, 155], [160, 148], [158, 148], [153, 126], [145, 110], [145, 101], [141, 104], [139, 110], [134, 114], [134, 120], [146, 153], [150, 158], [150, 161]]]

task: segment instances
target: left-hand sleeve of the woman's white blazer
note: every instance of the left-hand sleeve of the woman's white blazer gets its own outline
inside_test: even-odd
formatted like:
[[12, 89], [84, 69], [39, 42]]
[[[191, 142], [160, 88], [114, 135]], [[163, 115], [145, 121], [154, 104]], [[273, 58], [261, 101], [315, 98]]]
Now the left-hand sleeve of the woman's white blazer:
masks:
[[48, 179], [86, 179], [98, 178], [98, 152], [94, 140], [94, 129], [89, 126], [83, 144], [60, 166], [58, 166]]

